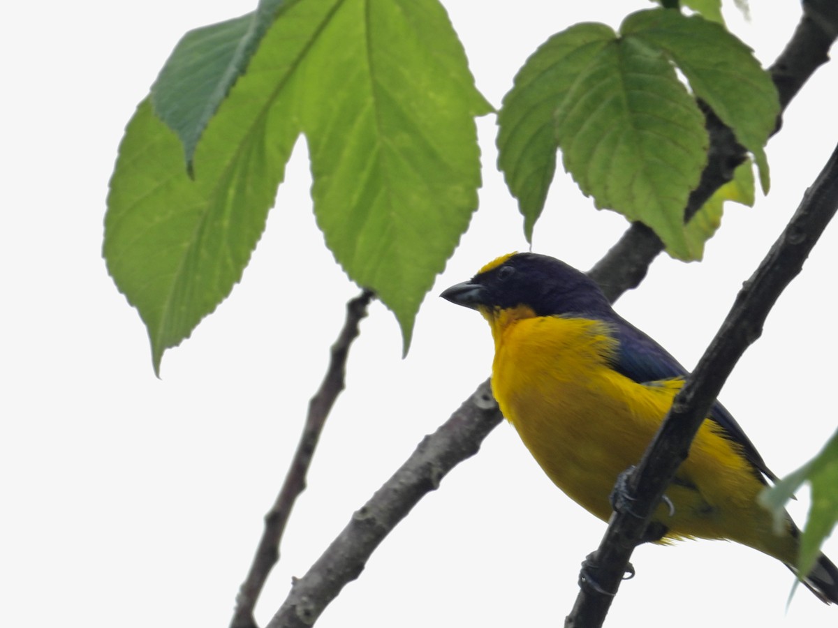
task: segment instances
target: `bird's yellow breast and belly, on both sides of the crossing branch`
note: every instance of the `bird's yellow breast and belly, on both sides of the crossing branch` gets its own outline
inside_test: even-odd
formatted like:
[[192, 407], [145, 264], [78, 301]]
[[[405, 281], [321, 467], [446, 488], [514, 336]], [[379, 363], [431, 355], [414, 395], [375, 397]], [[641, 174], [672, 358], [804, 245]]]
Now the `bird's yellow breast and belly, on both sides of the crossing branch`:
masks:
[[[493, 325], [494, 395], [551, 480], [603, 520], [617, 476], [636, 465], [680, 389], [680, 380], [640, 384], [609, 368], [614, 341], [602, 323], [559, 317]], [[771, 533], [755, 499], [763, 488], [737, 445], [706, 420], [666, 495], [668, 537], [730, 538], [794, 559], [790, 535]]]

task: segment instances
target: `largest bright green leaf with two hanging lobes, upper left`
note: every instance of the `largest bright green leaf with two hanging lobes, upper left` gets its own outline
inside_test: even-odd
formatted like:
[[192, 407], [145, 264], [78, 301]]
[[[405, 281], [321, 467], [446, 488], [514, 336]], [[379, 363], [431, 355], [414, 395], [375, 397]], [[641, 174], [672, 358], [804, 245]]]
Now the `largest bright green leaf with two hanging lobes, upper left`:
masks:
[[155, 370], [241, 279], [301, 131], [327, 244], [396, 313], [406, 345], [477, 206], [473, 116], [490, 106], [438, 3], [282, 6], [203, 131], [194, 180], [147, 102], [123, 138], [104, 255]]

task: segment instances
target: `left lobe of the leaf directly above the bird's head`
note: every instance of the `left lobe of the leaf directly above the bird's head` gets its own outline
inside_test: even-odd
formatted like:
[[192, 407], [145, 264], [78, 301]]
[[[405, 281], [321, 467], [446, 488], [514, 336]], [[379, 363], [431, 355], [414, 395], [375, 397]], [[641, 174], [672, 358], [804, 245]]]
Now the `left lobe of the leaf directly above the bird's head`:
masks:
[[556, 172], [553, 112], [577, 76], [616, 37], [604, 24], [582, 23], [553, 35], [515, 76], [498, 114], [498, 167], [524, 215], [526, 239], [544, 209]]

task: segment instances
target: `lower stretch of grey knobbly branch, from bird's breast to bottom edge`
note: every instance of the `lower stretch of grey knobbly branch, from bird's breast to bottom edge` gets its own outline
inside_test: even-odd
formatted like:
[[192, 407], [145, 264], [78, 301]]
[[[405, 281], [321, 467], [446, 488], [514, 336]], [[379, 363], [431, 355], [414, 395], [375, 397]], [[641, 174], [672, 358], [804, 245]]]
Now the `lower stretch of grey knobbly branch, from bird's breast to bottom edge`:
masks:
[[396, 524], [428, 492], [437, 489], [454, 466], [476, 454], [480, 443], [502, 420], [486, 381], [354, 513], [291, 593], [267, 628], [310, 628], [344, 584], [356, 579], [367, 559]]

